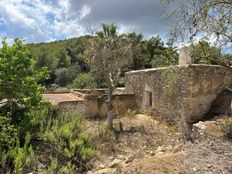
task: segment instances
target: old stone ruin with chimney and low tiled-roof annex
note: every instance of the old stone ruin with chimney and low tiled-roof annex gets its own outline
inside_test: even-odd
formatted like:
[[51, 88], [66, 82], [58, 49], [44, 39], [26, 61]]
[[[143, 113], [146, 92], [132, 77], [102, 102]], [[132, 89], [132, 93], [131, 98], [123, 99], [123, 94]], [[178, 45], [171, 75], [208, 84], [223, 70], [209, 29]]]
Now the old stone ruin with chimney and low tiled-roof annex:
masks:
[[[179, 65], [130, 71], [125, 88], [113, 95], [115, 115], [127, 109], [148, 112], [170, 123], [184, 116], [188, 122], [206, 114], [232, 114], [232, 68], [191, 64], [188, 48], [180, 51]], [[43, 94], [59, 110], [77, 109], [85, 117], [107, 115], [106, 89], [76, 90], [73, 93]]]

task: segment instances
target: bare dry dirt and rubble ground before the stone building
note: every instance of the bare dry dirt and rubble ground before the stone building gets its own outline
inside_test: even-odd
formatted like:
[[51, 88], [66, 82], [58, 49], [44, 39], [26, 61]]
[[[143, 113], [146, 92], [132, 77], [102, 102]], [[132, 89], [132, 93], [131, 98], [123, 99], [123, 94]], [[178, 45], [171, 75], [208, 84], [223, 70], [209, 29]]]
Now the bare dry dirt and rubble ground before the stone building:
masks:
[[232, 117], [194, 124], [193, 142], [183, 142], [177, 127], [147, 115], [122, 117], [115, 122], [123, 131], [107, 133], [96, 121], [86, 121], [86, 131], [97, 144], [96, 159], [88, 174], [232, 173], [232, 142], [221, 131], [221, 125], [232, 123]]

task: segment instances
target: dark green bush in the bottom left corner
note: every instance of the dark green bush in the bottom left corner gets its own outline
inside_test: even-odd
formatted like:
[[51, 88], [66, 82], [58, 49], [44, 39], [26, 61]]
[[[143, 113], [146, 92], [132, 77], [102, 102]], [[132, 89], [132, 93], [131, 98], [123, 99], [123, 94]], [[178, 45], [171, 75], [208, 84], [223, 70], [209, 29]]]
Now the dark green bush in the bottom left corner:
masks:
[[17, 130], [9, 124], [9, 118], [0, 117], [0, 173], [25, 173], [36, 167], [37, 159], [27, 133], [21, 147]]

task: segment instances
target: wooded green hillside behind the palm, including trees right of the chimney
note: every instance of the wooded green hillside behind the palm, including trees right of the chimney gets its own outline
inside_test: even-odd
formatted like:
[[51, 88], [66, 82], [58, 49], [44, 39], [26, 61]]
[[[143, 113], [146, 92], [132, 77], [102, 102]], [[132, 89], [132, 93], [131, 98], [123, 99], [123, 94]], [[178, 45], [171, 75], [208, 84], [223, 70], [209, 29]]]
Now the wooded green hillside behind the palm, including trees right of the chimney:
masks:
[[[177, 64], [176, 48], [165, 45], [159, 36], [144, 39], [142, 34], [122, 34], [132, 44], [132, 62], [123, 70], [156, 68]], [[50, 43], [28, 44], [36, 68], [47, 67], [50, 78], [43, 82], [49, 90], [59, 87], [105, 87], [103, 80], [88, 65], [85, 55], [94, 36], [81, 36]], [[231, 55], [221, 54], [218, 48], [200, 41], [193, 48], [193, 63], [231, 65]], [[128, 59], [130, 59], [128, 57]], [[123, 76], [123, 74], [122, 74]], [[121, 84], [123, 85], [123, 84]]]

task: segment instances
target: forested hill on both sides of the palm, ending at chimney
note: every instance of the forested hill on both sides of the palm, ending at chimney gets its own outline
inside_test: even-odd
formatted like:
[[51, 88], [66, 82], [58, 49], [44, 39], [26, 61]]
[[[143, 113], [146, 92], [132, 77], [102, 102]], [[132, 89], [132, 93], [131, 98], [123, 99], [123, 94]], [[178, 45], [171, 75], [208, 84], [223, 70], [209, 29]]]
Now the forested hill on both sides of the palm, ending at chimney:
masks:
[[[159, 36], [144, 40], [141, 34], [126, 34], [139, 54], [133, 54], [131, 69], [142, 69], [176, 64], [177, 53], [165, 47]], [[44, 84], [48, 87], [95, 87], [101, 86], [101, 79], [95, 77], [86, 63], [84, 52], [88, 49], [92, 36], [81, 36], [50, 43], [28, 44], [31, 56], [36, 60], [36, 67], [48, 67], [50, 79]]]

